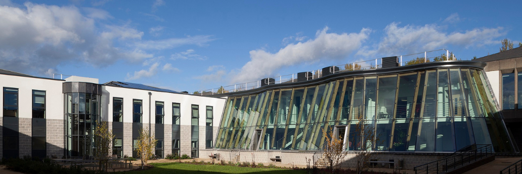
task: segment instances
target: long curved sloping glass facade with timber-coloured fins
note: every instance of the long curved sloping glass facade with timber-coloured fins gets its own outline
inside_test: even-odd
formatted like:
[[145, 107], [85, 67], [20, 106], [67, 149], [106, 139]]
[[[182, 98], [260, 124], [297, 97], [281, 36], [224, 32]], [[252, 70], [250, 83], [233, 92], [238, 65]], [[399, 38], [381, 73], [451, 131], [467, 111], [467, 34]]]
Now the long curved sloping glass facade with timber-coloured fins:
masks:
[[492, 144], [513, 152], [481, 69], [423, 69], [352, 76], [229, 97], [215, 148], [317, 150], [323, 130], [359, 149], [359, 118], [375, 130], [374, 150], [455, 152]]

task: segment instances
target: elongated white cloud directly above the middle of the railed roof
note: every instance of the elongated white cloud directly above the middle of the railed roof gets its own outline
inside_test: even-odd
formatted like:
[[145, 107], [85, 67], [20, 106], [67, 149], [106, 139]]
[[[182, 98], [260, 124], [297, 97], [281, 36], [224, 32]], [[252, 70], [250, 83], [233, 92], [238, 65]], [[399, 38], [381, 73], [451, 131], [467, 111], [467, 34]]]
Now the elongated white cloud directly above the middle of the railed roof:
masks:
[[371, 32], [363, 28], [359, 33], [328, 33], [328, 27], [318, 30], [315, 39], [291, 43], [276, 53], [265, 50], [250, 51], [250, 61], [233, 78], [233, 83], [250, 82], [273, 75], [282, 67], [321, 59], [343, 59], [361, 47]]

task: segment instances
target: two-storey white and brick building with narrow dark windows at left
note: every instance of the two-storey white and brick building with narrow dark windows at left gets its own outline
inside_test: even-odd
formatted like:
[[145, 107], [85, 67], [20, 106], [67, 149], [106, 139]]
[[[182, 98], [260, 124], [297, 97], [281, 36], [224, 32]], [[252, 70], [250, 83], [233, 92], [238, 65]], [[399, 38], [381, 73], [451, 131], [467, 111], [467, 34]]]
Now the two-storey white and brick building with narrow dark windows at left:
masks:
[[213, 148], [225, 99], [126, 82], [34, 77], [0, 69], [0, 158], [92, 155], [97, 121], [112, 128], [113, 154], [134, 156], [141, 127], [158, 140], [156, 155]]

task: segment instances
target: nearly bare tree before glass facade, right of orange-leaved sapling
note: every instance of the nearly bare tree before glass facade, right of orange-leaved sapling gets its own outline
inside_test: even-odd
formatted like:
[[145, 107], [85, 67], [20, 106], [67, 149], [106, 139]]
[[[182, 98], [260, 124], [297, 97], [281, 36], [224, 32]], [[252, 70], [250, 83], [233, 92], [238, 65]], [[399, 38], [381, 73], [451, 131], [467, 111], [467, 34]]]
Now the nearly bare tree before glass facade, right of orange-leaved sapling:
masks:
[[355, 131], [350, 136], [353, 142], [355, 159], [357, 159], [357, 171], [362, 173], [368, 167], [368, 161], [374, 159], [378, 153], [374, 152], [376, 144], [383, 144], [375, 136], [375, 125], [373, 121], [366, 120], [363, 115], [359, 115], [359, 121], [355, 124]]

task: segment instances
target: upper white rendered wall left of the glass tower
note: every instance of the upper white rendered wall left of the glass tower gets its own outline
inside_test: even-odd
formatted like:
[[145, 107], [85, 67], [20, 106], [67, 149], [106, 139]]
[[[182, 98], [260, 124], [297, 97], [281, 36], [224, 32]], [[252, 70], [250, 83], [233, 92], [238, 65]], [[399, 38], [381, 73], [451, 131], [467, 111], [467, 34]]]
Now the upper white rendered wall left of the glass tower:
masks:
[[[2, 86], [0, 105], [4, 105], [3, 87], [18, 88], [18, 117], [32, 118], [32, 90], [43, 90], [45, 91], [45, 118], [63, 120], [63, 82], [63, 80], [0, 74], [0, 86]], [[4, 110], [0, 110], [0, 117], [3, 117], [3, 112]]]

